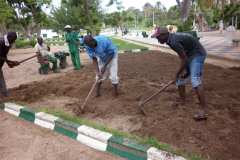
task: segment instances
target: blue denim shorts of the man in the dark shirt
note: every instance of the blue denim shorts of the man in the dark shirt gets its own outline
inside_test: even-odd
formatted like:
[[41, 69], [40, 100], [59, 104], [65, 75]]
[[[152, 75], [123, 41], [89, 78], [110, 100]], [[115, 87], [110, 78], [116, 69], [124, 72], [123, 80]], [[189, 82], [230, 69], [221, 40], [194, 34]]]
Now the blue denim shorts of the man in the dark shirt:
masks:
[[[190, 79], [192, 87], [196, 88], [202, 84], [202, 70], [206, 56], [197, 56], [187, 65], [187, 70], [190, 71]], [[185, 79], [178, 79], [177, 86], [185, 85], [188, 81], [188, 77]]]

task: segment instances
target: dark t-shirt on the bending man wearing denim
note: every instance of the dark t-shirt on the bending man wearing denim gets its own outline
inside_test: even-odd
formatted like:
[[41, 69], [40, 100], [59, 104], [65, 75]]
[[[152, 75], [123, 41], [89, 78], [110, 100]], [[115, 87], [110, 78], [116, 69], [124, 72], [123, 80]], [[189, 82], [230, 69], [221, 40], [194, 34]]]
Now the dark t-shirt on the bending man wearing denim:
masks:
[[167, 44], [179, 55], [185, 52], [189, 60], [207, 54], [199, 40], [187, 33], [170, 33]]

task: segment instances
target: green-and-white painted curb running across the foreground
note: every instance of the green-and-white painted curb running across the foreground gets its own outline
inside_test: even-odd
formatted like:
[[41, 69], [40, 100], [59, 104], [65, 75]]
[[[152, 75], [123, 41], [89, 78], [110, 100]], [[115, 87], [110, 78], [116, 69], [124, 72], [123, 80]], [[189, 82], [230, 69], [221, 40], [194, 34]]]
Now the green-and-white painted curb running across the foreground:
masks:
[[103, 152], [110, 152], [128, 160], [186, 160], [157, 148], [138, 144], [137, 142], [114, 136], [86, 125], [76, 124], [59, 117], [44, 113], [34, 112], [24, 106], [14, 103], [0, 104], [0, 110], [16, 117], [32, 122], [38, 126], [54, 130], [68, 136], [89, 147]]

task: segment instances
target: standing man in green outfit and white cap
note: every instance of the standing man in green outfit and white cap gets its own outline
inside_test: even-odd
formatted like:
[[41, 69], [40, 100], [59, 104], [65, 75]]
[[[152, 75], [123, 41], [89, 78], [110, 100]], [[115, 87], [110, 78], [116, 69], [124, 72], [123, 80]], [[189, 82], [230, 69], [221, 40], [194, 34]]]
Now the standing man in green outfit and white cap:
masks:
[[75, 70], [79, 70], [81, 68], [81, 62], [79, 57], [78, 35], [77, 33], [72, 31], [72, 27], [70, 25], [66, 25], [64, 29], [66, 31], [65, 39], [66, 39], [66, 42], [68, 43], [72, 64]]

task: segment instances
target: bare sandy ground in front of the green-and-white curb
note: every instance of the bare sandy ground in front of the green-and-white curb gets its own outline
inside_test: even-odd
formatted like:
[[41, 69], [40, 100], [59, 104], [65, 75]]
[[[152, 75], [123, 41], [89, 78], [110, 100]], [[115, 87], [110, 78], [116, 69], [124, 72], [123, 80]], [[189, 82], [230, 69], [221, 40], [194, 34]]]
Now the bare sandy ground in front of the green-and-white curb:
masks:
[[0, 111], [0, 160], [120, 160]]

